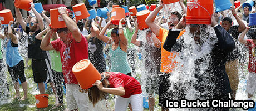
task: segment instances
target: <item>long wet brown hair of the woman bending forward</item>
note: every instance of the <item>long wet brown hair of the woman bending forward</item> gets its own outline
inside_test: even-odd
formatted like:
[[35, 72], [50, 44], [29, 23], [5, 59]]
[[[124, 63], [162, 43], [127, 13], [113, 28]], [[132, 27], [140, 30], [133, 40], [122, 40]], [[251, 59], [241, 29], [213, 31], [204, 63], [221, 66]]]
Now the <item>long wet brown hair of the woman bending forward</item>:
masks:
[[[109, 87], [109, 80], [107, 79], [102, 79], [102, 85], [103, 87]], [[107, 96], [107, 93], [102, 92], [101, 90], [99, 90], [97, 88], [97, 86], [93, 86], [91, 88], [88, 89], [88, 97], [90, 102], [92, 102], [93, 106], [95, 106], [95, 104], [97, 102], [99, 102], [100, 100], [105, 99]]]

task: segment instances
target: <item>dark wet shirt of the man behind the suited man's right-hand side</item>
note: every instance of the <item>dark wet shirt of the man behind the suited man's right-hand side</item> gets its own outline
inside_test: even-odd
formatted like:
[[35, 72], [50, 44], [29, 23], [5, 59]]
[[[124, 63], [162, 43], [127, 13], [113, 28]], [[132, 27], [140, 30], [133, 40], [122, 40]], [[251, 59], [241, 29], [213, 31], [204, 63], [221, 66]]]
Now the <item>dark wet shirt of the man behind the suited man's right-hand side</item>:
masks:
[[235, 49], [228, 53], [228, 61], [233, 61], [235, 59], [237, 59], [239, 57], [239, 51], [238, 51], [238, 36], [239, 36], [239, 32], [238, 32], [238, 27], [239, 26], [231, 26], [229, 28], [229, 30], [227, 31], [233, 38], [234, 38], [234, 41], [236, 42], [235, 44]]

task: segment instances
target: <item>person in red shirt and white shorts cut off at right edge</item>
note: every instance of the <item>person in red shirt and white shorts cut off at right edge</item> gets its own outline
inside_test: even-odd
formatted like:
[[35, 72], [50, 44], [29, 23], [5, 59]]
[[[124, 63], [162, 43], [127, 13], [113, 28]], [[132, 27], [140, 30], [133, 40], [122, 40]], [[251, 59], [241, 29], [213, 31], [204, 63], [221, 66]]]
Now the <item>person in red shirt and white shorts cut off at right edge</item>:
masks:
[[245, 92], [248, 94], [248, 100], [252, 100], [253, 94], [256, 91], [255, 82], [256, 82], [256, 32], [252, 34], [252, 39], [244, 39], [245, 34], [249, 31], [249, 28], [241, 34], [238, 41], [244, 44], [249, 49], [249, 65], [248, 65], [248, 78], [247, 86]]

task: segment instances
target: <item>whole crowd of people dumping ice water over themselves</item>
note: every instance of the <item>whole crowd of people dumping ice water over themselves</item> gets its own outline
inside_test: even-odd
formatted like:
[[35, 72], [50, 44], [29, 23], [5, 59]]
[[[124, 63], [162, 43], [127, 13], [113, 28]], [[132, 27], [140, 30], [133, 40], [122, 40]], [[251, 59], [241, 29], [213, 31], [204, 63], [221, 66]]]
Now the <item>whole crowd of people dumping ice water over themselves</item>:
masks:
[[[136, 50], [139, 47], [144, 50], [142, 61], [145, 70], [141, 70], [141, 74], [147, 75], [145, 89], [149, 94], [149, 110], [154, 110], [155, 94], [159, 95], [158, 105], [161, 110], [168, 110], [166, 100], [185, 99], [188, 88], [180, 87], [184, 84], [199, 92], [198, 99], [228, 100], [229, 94], [232, 99], [236, 99], [238, 70], [245, 64], [249, 64], [246, 93], [248, 100], [252, 100], [256, 91], [256, 30], [248, 24], [249, 13], [255, 13], [255, 8], [250, 11], [249, 7], [242, 9], [242, 5], [238, 8], [230, 7], [225, 12], [231, 14], [213, 13], [211, 24], [186, 25], [187, 11], [183, 2], [180, 0], [180, 5], [176, 6], [183, 9], [181, 13], [170, 10], [166, 17], [164, 13], [159, 13], [164, 7], [160, 1], [145, 20], [149, 28], [145, 29], [146, 34], [142, 35], [142, 38], [139, 38], [143, 31], [139, 29], [136, 16], [122, 18], [119, 25], [112, 24], [111, 12], [107, 14], [107, 19], [96, 17], [77, 21], [72, 12], [67, 12], [66, 7], [58, 7], [66, 28], [55, 29], [49, 25], [50, 15], [46, 15], [45, 11], [38, 13], [32, 2], [30, 9], [35, 17], [29, 15], [23, 18], [20, 9], [15, 8], [15, 21], [2, 26], [0, 34], [3, 41], [0, 67], [3, 68], [3, 63], [8, 66], [16, 90], [14, 98], [20, 96], [18, 79], [24, 92], [24, 96], [19, 100], [28, 98], [24, 59], [27, 63], [29, 58], [32, 60], [33, 80], [38, 84], [40, 94], [45, 94], [45, 83], [50, 83], [56, 97], [56, 107], [63, 105], [63, 82], [68, 110], [93, 110], [89, 106], [97, 106], [99, 102], [107, 99], [108, 93], [116, 95], [115, 110], [126, 110], [129, 104], [132, 110], [143, 110], [140, 80], [134, 78], [137, 64], [135, 55], [139, 52]], [[213, 32], [205, 31], [206, 28], [212, 29]], [[186, 42], [187, 38], [192, 38], [195, 47], [200, 47], [199, 50], [203, 50], [204, 44], [209, 41], [212, 44], [208, 44], [210, 50], [207, 54], [192, 61], [194, 69], [190, 73], [196, 79], [194, 82], [185, 83], [181, 79], [179, 82], [172, 82], [170, 78], [179, 74], [179, 67], [186, 66], [178, 65], [182, 63], [178, 58], [185, 60], [188, 56], [185, 51], [190, 50], [191, 46]], [[22, 39], [27, 41], [21, 41]], [[18, 47], [27, 51], [21, 52]], [[247, 50], [249, 54], [244, 53]], [[72, 72], [73, 65], [83, 59], [89, 59], [102, 74], [101, 80], [97, 80], [88, 90], [80, 88]], [[206, 68], [201, 68], [200, 64], [207, 64]], [[201, 76], [201, 73], [207, 76]], [[204, 81], [205, 79], [210, 81]], [[170, 87], [173, 90], [170, 90]], [[205, 93], [210, 90], [214, 91], [211, 94]]]

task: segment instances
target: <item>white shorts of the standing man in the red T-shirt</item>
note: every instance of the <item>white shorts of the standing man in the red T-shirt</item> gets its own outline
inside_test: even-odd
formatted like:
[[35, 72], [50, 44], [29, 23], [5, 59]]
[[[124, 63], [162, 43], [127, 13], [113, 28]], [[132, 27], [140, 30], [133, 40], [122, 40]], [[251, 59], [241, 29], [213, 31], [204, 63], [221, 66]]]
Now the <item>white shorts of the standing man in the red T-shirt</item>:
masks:
[[66, 100], [68, 110], [89, 110], [88, 93], [81, 93], [78, 84], [66, 84]]

